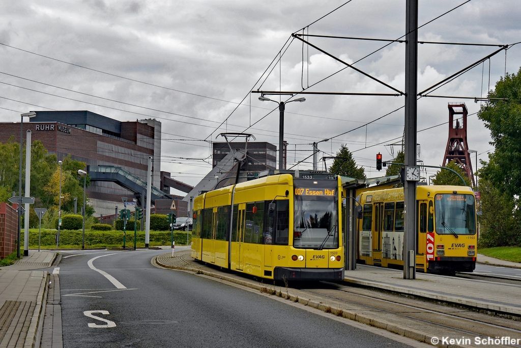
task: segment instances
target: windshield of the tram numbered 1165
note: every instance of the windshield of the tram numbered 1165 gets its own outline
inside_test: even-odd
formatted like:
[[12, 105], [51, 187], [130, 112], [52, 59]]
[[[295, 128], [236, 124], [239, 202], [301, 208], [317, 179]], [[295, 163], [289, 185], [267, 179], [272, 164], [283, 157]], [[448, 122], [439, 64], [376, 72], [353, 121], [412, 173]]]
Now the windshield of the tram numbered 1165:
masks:
[[476, 204], [473, 195], [438, 194], [435, 198], [436, 233], [476, 234]]

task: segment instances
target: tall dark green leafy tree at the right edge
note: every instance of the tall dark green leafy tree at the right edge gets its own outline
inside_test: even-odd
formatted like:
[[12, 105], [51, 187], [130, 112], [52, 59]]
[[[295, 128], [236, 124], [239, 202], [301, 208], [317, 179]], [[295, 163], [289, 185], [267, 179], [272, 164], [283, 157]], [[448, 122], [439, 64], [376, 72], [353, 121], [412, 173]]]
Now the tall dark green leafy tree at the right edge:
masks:
[[486, 178], [501, 193], [515, 198], [521, 196], [521, 68], [516, 74], [506, 74], [489, 92], [489, 101], [481, 106], [478, 117], [490, 129], [494, 152], [489, 162], [482, 162], [479, 176]]

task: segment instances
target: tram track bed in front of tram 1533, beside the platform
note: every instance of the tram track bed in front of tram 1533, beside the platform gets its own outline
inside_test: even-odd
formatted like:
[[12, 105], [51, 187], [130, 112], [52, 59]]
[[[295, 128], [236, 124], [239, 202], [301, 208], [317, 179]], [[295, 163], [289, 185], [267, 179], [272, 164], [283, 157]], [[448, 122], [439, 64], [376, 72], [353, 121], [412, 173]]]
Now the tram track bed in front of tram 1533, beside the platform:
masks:
[[[421, 331], [450, 337], [520, 337], [521, 322], [374, 290], [336, 285], [329, 289], [299, 289], [325, 302]], [[513, 345], [521, 347], [521, 345]]]

